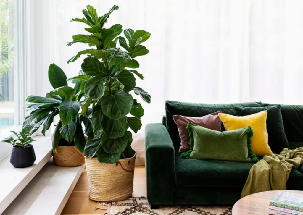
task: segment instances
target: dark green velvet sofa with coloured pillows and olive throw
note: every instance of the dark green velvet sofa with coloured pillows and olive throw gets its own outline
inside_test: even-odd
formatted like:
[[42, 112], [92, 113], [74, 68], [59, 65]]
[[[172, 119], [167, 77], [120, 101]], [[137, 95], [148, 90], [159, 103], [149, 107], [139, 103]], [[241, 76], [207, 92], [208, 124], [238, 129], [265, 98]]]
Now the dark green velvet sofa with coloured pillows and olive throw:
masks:
[[[216, 111], [236, 115], [235, 107], [273, 104], [195, 104], [166, 101], [162, 123], [145, 127], [147, 199], [152, 208], [161, 204], [234, 204], [253, 163], [184, 159], [178, 154], [180, 138], [173, 115], [201, 117]], [[291, 149], [303, 146], [303, 106], [281, 105], [285, 134]], [[224, 127], [222, 125], [222, 130]], [[274, 152], [277, 153], [277, 152]], [[287, 189], [302, 190], [303, 166], [291, 171]]]

